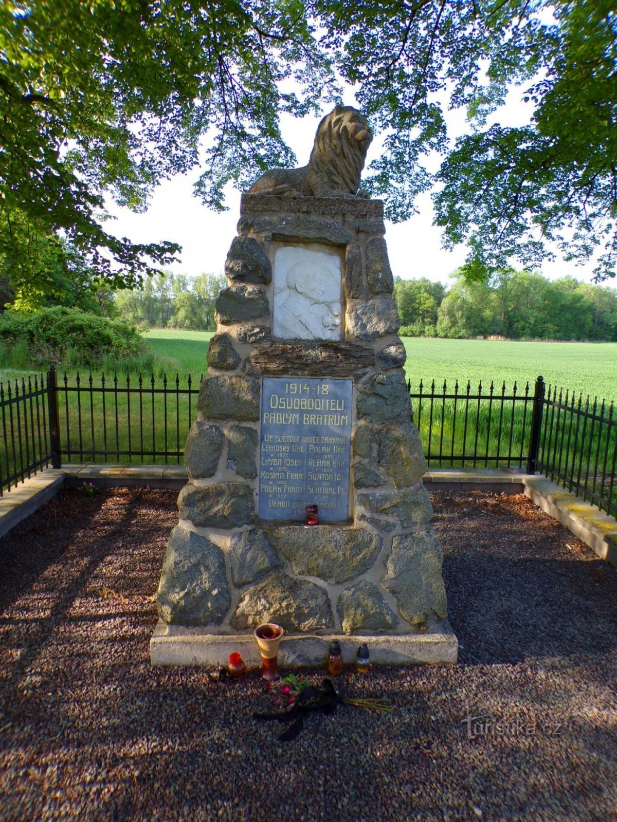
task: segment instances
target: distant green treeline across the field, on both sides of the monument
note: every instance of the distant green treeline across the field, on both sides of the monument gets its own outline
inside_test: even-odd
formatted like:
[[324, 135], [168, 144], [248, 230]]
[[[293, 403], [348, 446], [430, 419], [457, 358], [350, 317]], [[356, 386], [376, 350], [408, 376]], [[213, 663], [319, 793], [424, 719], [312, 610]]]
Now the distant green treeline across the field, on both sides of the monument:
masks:
[[[617, 341], [617, 289], [610, 286], [513, 269], [486, 283], [468, 283], [457, 272], [452, 279], [448, 289], [426, 278], [395, 278], [401, 335]], [[109, 314], [142, 328], [214, 330], [225, 284], [213, 274], [161, 274], [139, 290], [117, 292]]]

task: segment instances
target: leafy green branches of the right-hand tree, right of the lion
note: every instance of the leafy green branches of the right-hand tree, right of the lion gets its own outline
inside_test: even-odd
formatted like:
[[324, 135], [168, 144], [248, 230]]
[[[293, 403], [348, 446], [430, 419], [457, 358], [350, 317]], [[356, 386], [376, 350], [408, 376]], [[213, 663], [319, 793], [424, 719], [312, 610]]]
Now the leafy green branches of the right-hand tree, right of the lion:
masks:
[[[340, 3], [317, 0], [343, 78], [384, 130], [365, 187], [406, 219], [438, 182], [436, 222], [470, 249], [466, 274], [485, 279], [515, 256], [540, 265], [557, 242], [573, 260], [601, 254], [615, 275], [617, 16], [614, 3]], [[487, 125], [508, 87], [527, 84], [531, 121]], [[522, 94], [522, 96], [523, 96]], [[442, 107], [465, 107], [470, 133], [454, 150]], [[436, 176], [429, 151], [444, 155]]]

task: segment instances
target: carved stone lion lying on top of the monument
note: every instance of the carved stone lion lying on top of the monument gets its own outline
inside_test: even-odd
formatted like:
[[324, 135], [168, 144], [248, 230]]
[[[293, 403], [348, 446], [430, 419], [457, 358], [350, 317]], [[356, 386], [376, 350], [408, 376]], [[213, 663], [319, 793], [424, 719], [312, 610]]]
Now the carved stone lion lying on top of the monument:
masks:
[[355, 196], [373, 132], [363, 114], [337, 105], [319, 123], [308, 165], [267, 171], [249, 194]]

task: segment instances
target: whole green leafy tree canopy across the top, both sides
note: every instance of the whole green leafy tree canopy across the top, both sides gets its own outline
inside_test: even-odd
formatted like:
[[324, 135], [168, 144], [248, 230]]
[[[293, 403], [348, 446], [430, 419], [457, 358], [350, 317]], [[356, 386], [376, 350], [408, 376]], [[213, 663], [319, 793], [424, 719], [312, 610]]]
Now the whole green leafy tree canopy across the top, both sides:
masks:
[[[202, 164], [197, 195], [221, 209], [227, 183], [295, 162], [281, 113], [353, 91], [383, 133], [365, 187], [401, 220], [438, 182], [467, 279], [511, 257], [538, 266], [546, 241], [614, 276], [616, 35], [606, 0], [0, 0], [0, 254], [23, 267], [33, 233], [59, 233], [136, 284], [178, 247], [116, 238], [104, 196], [143, 210], [157, 182]], [[489, 119], [512, 85], [520, 127]], [[447, 107], [470, 124], [453, 146]]]

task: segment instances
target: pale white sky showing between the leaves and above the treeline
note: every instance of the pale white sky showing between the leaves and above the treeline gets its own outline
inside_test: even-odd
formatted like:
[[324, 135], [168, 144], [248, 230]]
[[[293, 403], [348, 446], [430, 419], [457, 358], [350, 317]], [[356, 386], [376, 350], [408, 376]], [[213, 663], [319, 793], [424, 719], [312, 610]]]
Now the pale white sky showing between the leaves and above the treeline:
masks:
[[[500, 122], [503, 126], [516, 126], [528, 122], [530, 109], [522, 102], [522, 95], [522, 88], [513, 88], [505, 105], [489, 119], [488, 125]], [[346, 104], [353, 105], [355, 101], [350, 99]], [[468, 128], [465, 113], [461, 110], [445, 112], [445, 116], [452, 140]], [[298, 120], [287, 115], [281, 118], [281, 132], [295, 151], [298, 165], [308, 162], [319, 119]], [[379, 148], [380, 141], [373, 140], [369, 147], [367, 166], [371, 159], [378, 156]], [[438, 169], [438, 164], [438, 155], [429, 157], [429, 170]], [[144, 214], [134, 214], [126, 208], [109, 203], [109, 213], [117, 219], [107, 225], [107, 230], [119, 237], [128, 237], [133, 242], [179, 242], [183, 247], [182, 262], [169, 266], [175, 273], [189, 276], [197, 276], [202, 272], [222, 274], [225, 257], [236, 235], [240, 195], [230, 186], [225, 200], [229, 210], [217, 214], [193, 196], [193, 182], [197, 180], [199, 173], [199, 169], [193, 169], [189, 175], [177, 175], [162, 182]], [[392, 273], [402, 279], [427, 277], [447, 283], [449, 275], [464, 263], [466, 248], [458, 246], [453, 251], [446, 251], [442, 247], [442, 231], [433, 225], [434, 211], [429, 193], [419, 196], [416, 206], [418, 214], [406, 222], [386, 222], [386, 241]], [[555, 253], [557, 259], [545, 263], [542, 274], [550, 279], [572, 275], [591, 282], [593, 263], [574, 266], [571, 262], [565, 262], [558, 251], [555, 250]], [[513, 265], [516, 266], [516, 261], [513, 261]]]

